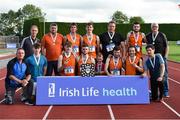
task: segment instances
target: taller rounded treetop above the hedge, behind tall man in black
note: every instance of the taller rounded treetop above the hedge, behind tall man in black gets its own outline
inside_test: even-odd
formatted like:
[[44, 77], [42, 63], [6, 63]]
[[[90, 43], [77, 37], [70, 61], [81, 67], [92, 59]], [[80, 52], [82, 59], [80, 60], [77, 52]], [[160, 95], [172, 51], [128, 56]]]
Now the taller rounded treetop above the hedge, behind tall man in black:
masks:
[[128, 17], [121, 11], [114, 12], [114, 14], [112, 15], [112, 20], [114, 20], [117, 24], [128, 23], [129, 21]]

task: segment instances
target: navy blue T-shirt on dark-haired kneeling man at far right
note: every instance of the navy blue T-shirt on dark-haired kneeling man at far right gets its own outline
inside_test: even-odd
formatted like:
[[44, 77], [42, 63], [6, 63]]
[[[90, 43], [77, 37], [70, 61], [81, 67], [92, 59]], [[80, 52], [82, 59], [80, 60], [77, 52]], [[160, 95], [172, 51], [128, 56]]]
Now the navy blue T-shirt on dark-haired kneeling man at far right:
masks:
[[[155, 63], [155, 64], [154, 64]], [[146, 60], [144, 64], [144, 70], [149, 70], [150, 72], [150, 79], [156, 80], [160, 77], [160, 65], [164, 64], [164, 60], [161, 54], [155, 54], [154, 58], [149, 58]]]

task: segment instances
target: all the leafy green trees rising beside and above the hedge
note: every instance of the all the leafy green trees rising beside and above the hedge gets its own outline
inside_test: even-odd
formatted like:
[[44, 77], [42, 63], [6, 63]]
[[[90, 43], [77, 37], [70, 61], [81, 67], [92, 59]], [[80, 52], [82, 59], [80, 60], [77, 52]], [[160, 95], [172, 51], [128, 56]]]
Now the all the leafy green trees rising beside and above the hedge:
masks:
[[[22, 36], [25, 20], [38, 18], [40, 21], [44, 21], [45, 15], [46, 13], [40, 7], [32, 4], [26, 4], [17, 11], [9, 10], [6, 13], [0, 13], [0, 35]], [[111, 20], [114, 20], [117, 24], [134, 23], [135, 21], [139, 23], [145, 22], [140, 16], [128, 18], [121, 11], [115, 11], [111, 16]]]

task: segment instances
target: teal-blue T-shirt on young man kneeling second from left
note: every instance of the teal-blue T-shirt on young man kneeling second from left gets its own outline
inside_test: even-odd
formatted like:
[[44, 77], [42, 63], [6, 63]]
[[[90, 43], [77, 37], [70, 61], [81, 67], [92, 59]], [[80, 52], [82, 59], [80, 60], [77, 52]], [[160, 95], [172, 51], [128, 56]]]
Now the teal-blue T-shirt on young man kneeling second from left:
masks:
[[37, 81], [38, 76], [43, 76], [44, 68], [47, 67], [47, 59], [44, 55], [40, 55], [40, 57], [37, 58], [37, 61], [38, 59], [40, 59], [39, 65], [37, 65], [34, 55], [31, 55], [26, 59], [26, 63], [30, 69], [31, 78], [34, 80], [34, 82]]

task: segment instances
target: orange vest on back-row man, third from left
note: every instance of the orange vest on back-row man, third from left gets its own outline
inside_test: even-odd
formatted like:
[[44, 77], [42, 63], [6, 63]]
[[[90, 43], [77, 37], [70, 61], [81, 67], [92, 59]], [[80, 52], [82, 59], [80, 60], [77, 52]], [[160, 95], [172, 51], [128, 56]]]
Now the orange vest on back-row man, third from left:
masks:
[[76, 34], [76, 39], [73, 40], [70, 34], [66, 35], [66, 38], [69, 42], [72, 43], [73, 52], [76, 53], [77, 56], [80, 55], [80, 43], [81, 43], [81, 36]]

